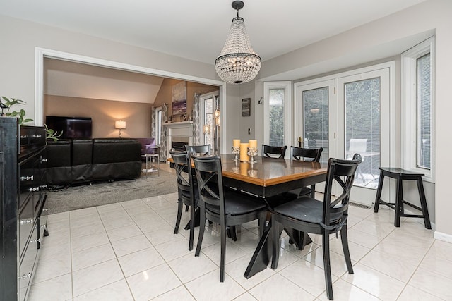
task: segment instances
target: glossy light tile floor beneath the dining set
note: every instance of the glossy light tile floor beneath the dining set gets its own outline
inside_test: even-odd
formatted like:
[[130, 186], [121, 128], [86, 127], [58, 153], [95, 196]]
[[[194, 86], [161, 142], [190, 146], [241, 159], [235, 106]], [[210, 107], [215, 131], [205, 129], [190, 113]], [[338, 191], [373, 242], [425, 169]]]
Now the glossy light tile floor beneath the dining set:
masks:
[[[283, 237], [278, 269], [246, 279], [258, 241], [257, 224], [247, 223], [237, 242], [227, 240], [220, 283], [218, 227], [194, 257], [189, 231], [173, 234], [176, 205], [170, 194], [49, 216], [28, 300], [328, 300], [320, 236], [302, 251]], [[350, 207], [355, 274], [331, 235], [335, 300], [452, 300], [452, 244], [434, 240], [418, 219], [395, 228], [393, 216], [386, 207], [378, 214]], [[188, 220], [184, 212], [181, 225]]]

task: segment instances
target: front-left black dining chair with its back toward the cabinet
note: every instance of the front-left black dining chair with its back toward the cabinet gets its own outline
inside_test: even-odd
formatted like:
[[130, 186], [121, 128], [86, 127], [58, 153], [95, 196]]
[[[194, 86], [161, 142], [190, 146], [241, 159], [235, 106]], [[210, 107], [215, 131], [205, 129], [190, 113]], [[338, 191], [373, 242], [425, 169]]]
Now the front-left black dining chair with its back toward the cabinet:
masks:
[[249, 221], [259, 220], [259, 235], [266, 224], [267, 207], [265, 202], [251, 195], [223, 188], [220, 156], [194, 156], [196, 178], [198, 180], [200, 225], [198, 245], [195, 256], [199, 256], [203, 244], [206, 219], [220, 225], [220, 282], [225, 280], [226, 227], [238, 226]]

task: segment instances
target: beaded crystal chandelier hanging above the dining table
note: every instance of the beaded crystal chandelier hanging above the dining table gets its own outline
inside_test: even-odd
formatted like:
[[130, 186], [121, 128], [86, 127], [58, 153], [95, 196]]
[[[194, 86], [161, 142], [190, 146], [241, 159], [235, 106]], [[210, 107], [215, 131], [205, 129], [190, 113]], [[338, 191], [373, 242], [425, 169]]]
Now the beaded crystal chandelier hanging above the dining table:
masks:
[[249, 82], [261, 69], [261, 57], [251, 47], [244, 20], [239, 17], [239, 9], [243, 6], [243, 1], [232, 2], [232, 8], [237, 11], [237, 17], [232, 19], [225, 47], [215, 60], [218, 76], [228, 84]]

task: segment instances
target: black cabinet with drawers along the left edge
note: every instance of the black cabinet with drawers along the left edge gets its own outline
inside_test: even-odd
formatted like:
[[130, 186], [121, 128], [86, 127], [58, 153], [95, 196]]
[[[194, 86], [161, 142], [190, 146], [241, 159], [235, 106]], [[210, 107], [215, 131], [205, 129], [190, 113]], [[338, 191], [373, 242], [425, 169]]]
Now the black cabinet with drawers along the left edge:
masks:
[[45, 147], [45, 128], [0, 117], [0, 300], [26, 300], [42, 239], [48, 235]]

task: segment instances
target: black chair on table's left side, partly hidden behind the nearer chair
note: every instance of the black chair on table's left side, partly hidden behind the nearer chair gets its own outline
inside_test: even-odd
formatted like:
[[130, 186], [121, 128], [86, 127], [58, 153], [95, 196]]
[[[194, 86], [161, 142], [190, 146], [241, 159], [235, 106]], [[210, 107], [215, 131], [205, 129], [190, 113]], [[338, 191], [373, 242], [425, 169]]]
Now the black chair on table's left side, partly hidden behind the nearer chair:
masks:
[[189, 250], [193, 249], [194, 240], [194, 221], [195, 221], [195, 209], [198, 204], [198, 186], [194, 182], [193, 172], [190, 164], [190, 158], [187, 152], [176, 152], [171, 150], [169, 152], [174, 161], [174, 169], [176, 169], [177, 178], [177, 218], [176, 226], [174, 226], [174, 234], [179, 231], [179, 226], [182, 218], [182, 207], [190, 209], [190, 221], [189, 221]]

